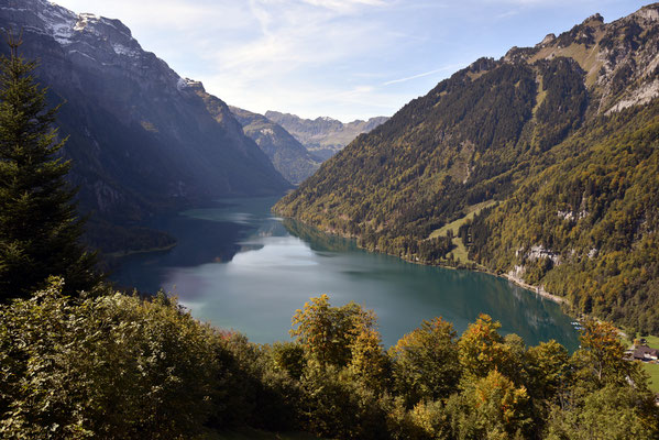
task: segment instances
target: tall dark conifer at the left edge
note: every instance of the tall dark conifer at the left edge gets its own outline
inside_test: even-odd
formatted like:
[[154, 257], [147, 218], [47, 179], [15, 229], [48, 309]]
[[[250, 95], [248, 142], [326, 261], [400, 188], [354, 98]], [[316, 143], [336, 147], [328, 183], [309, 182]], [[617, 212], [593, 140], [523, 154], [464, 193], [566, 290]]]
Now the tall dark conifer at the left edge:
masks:
[[74, 294], [98, 283], [97, 256], [80, 244], [77, 217], [65, 177], [72, 164], [59, 157], [66, 140], [54, 128], [47, 89], [33, 77], [34, 62], [19, 56], [21, 38], [8, 37], [0, 58], [0, 300], [28, 296], [51, 275]]

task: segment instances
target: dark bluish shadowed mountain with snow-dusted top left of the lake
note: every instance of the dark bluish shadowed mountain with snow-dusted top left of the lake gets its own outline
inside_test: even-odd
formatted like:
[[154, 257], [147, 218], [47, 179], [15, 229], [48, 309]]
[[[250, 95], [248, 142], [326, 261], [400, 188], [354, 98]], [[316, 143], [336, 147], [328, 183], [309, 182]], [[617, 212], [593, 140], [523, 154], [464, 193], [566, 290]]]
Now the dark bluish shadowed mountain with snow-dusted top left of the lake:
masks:
[[64, 102], [58, 127], [68, 136], [70, 180], [80, 187], [81, 210], [94, 211], [91, 241], [106, 251], [136, 243], [134, 233], [114, 237], [117, 224], [289, 187], [227, 105], [209, 101], [201, 84], [145, 52], [119, 20], [46, 0], [0, 0], [0, 26], [22, 30], [21, 55], [39, 59], [37, 79], [50, 88], [51, 103]]

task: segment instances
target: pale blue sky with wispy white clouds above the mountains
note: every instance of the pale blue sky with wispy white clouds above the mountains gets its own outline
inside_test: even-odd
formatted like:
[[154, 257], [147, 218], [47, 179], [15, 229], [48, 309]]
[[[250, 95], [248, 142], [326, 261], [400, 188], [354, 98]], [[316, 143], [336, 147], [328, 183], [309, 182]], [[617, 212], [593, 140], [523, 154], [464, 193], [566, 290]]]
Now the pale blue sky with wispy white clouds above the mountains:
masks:
[[392, 116], [482, 56], [532, 46], [637, 0], [55, 0], [121, 20], [232, 106], [343, 122]]

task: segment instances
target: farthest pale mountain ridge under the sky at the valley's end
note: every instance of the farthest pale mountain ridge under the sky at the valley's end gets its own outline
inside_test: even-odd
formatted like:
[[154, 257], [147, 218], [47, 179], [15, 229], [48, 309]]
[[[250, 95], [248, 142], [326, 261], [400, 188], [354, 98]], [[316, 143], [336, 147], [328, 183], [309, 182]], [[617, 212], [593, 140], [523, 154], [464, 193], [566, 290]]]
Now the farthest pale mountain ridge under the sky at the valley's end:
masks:
[[295, 114], [279, 113], [272, 110], [265, 112], [265, 118], [286, 129], [309, 152], [322, 161], [327, 161], [356, 136], [370, 132], [388, 119], [386, 117], [376, 117], [367, 121], [356, 120], [343, 123], [327, 117], [316, 118], [315, 120], [301, 119]]

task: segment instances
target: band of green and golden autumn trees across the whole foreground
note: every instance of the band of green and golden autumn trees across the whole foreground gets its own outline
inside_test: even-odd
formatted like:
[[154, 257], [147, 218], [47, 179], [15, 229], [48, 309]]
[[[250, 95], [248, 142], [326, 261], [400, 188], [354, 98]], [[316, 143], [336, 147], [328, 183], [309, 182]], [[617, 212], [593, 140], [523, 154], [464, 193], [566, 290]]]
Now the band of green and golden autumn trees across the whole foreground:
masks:
[[659, 433], [647, 377], [606, 322], [586, 322], [572, 355], [556, 341], [527, 349], [486, 315], [461, 337], [424, 321], [385, 351], [373, 311], [323, 295], [295, 312], [295, 341], [259, 345], [164, 294], [99, 289], [68, 298], [53, 279], [0, 306], [2, 438], [188, 439], [239, 426], [337, 439]]

